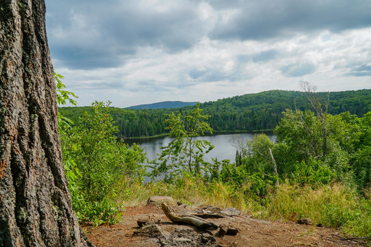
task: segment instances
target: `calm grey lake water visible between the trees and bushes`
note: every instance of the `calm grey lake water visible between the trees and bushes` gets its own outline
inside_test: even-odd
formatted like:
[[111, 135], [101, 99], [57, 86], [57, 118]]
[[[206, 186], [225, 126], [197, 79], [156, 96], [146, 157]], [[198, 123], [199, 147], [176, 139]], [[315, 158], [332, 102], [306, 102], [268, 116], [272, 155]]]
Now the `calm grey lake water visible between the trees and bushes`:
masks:
[[[267, 134], [271, 141], [276, 141], [274, 134]], [[236, 150], [238, 143], [246, 144], [247, 141], [251, 141], [254, 134], [251, 133], [240, 133], [240, 134], [217, 134], [207, 137], [196, 137], [195, 139], [207, 140], [214, 145], [214, 149], [208, 154], [205, 154], [205, 161], [212, 162], [212, 158], [217, 158], [218, 161], [229, 159], [232, 163], [235, 162]], [[172, 141], [170, 137], [161, 137], [155, 139], [132, 139], [131, 143], [138, 143], [144, 152], [147, 153], [147, 157], [153, 160], [157, 157], [157, 154], [161, 153], [161, 148], [166, 147]]]

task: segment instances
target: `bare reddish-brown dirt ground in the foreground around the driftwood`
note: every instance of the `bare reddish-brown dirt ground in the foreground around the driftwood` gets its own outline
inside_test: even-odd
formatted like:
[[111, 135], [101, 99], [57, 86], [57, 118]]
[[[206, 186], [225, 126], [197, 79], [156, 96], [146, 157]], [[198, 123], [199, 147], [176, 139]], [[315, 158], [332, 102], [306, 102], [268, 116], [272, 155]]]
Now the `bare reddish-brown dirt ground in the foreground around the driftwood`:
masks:
[[[181, 209], [179, 209], [181, 210]], [[197, 211], [199, 209], [193, 209]], [[177, 212], [177, 209], [175, 209]], [[155, 235], [133, 235], [140, 231], [138, 219], [149, 219], [161, 230], [170, 233], [166, 239]], [[125, 246], [368, 246], [358, 239], [345, 239], [332, 228], [300, 225], [295, 222], [270, 222], [258, 220], [248, 215], [208, 219], [218, 225], [238, 228], [237, 235], [218, 237], [216, 231], [204, 231], [196, 226], [170, 222], [160, 207], [142, 205], [128, 207], [122, 221], [114, 225], [98, 228], [84, 226], [90, 241], [97, 247]], [[156, 226], [156, 227], [157, 227]]]

